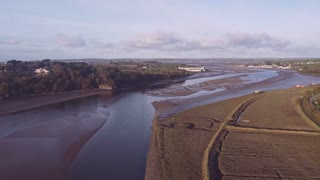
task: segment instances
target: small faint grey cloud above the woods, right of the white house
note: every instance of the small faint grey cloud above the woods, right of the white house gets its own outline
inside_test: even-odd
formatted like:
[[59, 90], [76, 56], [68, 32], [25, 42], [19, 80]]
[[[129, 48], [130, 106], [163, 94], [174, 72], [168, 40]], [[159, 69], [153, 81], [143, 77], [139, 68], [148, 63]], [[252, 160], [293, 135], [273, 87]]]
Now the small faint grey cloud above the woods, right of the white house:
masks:
[[65, 34], [59, 34], [56, 37], [56, 43], [60, 46], [81, 48], [86, 46], [86, 41], [81, 37], [72, 37]]

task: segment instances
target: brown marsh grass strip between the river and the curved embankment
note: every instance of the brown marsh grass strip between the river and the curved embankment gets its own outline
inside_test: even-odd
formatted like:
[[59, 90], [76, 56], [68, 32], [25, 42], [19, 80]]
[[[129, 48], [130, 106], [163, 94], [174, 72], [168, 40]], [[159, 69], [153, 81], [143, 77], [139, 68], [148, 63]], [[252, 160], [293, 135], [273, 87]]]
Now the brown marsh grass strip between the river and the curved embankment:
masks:
[[254, 96], [201, 106], [156, 121], [153, 138], [159, 162], [159, 179], [202, 179], [202, 158], [212, 136], [229, 112]]

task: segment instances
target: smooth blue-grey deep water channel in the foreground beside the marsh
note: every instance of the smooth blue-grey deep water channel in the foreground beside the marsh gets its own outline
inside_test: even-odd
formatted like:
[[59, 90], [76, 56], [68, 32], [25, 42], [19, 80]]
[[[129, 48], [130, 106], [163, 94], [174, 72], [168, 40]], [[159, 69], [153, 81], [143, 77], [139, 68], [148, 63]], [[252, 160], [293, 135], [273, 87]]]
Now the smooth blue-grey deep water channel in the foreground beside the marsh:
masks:
[[143, 93], [115, 97], [111, 116], [81, 150], [72, 179], [143, 179], [154, 109]]

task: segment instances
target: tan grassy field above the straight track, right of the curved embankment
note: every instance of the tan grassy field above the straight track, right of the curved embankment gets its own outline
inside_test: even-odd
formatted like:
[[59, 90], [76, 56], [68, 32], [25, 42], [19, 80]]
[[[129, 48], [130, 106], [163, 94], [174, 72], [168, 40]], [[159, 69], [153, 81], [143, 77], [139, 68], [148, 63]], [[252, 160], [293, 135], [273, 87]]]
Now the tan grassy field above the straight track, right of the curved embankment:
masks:
[[300, 109], [299, 100], [307, 90], [308, 88], [291, 88], [267, 92], [248, 106], [237, 125], [256, 128], [317, 130], [317, 125]]

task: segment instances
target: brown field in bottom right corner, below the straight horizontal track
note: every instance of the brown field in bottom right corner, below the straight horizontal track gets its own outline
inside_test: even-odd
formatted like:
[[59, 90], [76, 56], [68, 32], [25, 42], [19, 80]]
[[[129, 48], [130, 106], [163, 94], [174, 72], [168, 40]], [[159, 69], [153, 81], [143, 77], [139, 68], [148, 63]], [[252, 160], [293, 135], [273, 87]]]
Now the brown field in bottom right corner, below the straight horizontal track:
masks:
[[219, 154], [223, 179], [319, 178], [320, 134], [229, 130]]

